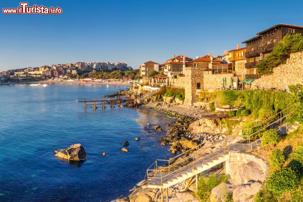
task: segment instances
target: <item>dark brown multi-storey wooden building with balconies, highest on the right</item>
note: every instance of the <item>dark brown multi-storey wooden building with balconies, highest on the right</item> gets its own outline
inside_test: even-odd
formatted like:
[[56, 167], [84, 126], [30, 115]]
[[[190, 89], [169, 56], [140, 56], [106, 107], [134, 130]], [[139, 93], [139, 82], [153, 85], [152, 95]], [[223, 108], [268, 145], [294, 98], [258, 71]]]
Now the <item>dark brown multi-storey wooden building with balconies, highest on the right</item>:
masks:
[[277, 24], [268, 29], [260, 31], [257, 36], [243, 41], [246, 45], [245, 69], [248, 69], [247, 78], [259, 78], [256, 64], [265, 58], [279, 41], [287, 34], [303, 34], [303, 27], [297, 25]]

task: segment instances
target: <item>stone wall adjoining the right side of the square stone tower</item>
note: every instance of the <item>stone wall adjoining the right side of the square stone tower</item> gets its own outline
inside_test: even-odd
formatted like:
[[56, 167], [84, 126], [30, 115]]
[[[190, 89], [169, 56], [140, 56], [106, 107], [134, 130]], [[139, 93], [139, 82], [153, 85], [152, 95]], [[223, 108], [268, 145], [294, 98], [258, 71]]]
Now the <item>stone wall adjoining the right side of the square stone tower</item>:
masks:
[[230, 86], [230, 78], [234, 77], [233, 74], [211, 74], [211, 75], [204, 75], [203, 78], [203, 88], [221, 88], [223, 83], [223, 78], [226, 77], [226, 85]]

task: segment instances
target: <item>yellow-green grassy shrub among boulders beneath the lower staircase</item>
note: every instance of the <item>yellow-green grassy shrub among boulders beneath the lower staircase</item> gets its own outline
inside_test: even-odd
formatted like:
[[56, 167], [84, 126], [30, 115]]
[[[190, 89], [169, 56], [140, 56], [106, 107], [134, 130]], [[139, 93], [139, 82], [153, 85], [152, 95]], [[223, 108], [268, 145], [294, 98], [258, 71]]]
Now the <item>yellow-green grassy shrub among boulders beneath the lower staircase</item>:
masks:
[[200, 201], [209, 201], [211, 190], [227, 180], [228, 177], [225, 175], [216, 176], [216, 174], [211, 174], [208, 177], [202, 176], [198, 181], [198, 190], [195, 192], [195, 196]]

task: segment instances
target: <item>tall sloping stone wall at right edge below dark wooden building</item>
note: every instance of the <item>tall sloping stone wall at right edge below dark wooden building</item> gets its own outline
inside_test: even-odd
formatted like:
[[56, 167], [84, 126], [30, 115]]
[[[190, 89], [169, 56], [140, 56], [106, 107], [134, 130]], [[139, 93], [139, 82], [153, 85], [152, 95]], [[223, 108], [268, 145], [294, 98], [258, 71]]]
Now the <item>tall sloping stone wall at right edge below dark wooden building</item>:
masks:
[[275, 67], [271, 75], [262, 75], [251, 86], [287, 89], [294, 84], [303, 84], [303, 52], [291, 53], [286, 64]]

